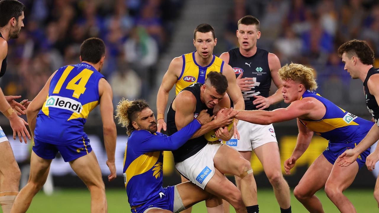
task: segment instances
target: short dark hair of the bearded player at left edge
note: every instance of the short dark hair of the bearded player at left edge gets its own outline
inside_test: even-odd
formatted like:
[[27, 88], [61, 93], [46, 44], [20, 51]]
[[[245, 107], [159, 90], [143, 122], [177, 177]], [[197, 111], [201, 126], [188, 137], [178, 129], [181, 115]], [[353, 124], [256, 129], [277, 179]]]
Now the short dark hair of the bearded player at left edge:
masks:
[[17, 0], [1, 0], [0, 27], [4, 27], [13, 17], [18, 20], [24, 9], [25, 5]]

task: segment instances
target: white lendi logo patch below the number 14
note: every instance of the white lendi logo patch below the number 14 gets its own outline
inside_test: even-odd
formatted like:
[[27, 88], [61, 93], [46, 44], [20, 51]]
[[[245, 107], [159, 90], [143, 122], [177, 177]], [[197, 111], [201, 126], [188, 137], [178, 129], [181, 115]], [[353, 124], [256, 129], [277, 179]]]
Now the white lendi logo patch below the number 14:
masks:
[[81, 113], [83, 107], [81, 103], [70, 98], [61, 97], [61, 96], [50, 96], [45, 103], [45, 107], [54, 107], [64, 110], [70, 110], [74, 113]]

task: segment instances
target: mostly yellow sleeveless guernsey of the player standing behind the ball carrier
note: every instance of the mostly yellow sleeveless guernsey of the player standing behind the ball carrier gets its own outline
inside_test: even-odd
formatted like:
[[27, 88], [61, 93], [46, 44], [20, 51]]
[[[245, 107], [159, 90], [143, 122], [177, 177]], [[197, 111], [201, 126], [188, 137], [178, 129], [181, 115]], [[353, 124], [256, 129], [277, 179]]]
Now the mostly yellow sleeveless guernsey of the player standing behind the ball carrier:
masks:
[[195, 52], [182, 55], [183, 67], [182, 73], [176, 81], [176, 94], [193, 83], [204, 83], [205, 78], [207, 78], [207, 74], [211, 71], [222, 73], [224, 61], [222, 61], [221, 58], [213, 55], [212, 62], [208, 64], [208, 66], [202, 67], [196, 63]]

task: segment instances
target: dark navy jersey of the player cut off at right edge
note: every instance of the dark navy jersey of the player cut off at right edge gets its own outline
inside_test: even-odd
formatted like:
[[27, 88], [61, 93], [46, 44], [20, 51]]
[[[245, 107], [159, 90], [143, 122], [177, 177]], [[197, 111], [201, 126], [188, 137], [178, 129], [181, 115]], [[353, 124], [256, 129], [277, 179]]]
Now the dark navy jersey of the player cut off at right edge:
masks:
[[379, 74], [379, 69], [371, 67], [371, 69], [368, 70], [365, 81], [363, 82], [363, 89], [365, 91], [367, 109], [373, 115], [376, 125], [379, 126], [379, 106], [376, 102], [375, 96], [371, 95], [367, 86], [368, 79], [374, 74]]

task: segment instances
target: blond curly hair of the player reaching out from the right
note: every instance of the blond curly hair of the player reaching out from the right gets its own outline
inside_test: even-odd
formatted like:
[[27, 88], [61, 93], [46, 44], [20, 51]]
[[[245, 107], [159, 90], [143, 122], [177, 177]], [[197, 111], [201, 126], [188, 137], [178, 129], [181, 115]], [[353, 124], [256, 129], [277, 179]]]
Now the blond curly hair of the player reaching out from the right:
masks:
[[310, 67], [295, 63], [286, 64], [279, 69], [278, 74], [280, 80], [298, 81], [310, 91], [317, 89], [315, 74]]

